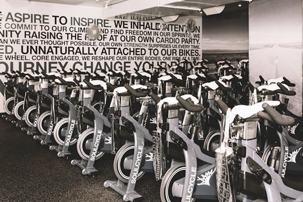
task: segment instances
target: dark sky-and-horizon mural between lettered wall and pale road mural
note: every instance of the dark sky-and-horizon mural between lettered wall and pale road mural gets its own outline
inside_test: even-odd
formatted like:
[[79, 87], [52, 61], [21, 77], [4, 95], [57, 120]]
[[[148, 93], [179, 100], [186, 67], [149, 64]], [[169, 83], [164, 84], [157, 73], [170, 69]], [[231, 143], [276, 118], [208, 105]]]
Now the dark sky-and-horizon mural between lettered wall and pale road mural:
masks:
[[[221, 14], [202, 18], [203, 58], [218, 61], [228, 59], [237, 65], [248, 58], [248, 4], [228, 4]], [[209, 64], [212, 68], [212, 64]]]

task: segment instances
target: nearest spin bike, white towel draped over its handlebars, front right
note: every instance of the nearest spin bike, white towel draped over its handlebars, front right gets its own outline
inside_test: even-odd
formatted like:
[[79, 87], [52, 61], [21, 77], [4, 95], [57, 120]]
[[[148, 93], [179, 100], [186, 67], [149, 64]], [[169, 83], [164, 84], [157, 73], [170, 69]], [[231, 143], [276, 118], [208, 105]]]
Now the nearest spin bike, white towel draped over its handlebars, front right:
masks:
[[[292, 117], [281, 115], [271, 107], [277, 106], [280, 102], [265, 101], [250, 106], [240, 105], [230, 110], [219, 98], [216, 98], [216, 101], [226, 114], [224, 141], [221, 147], [216, 150], [219, 201], [235, 201], [236, 198], [241, 201], [302, 201], [303, 187], [281, 177], [274, 171], [277, 153], [272, 155], [270, 166], [257, 153], [257, 122], [259, 118], [276, 122], [281, 126], [294, 123]], [[231, 148], [227, 143], [229, 127], [234, 121], [242, 124], [243, 128], [240, 131], [242, 133], [241, 141], [238, 142], [237, 146]], [[287, 156], [286, 138], [284, 136], [279, 138], [285, 143], [281, 155]], [[287, 164], [287, 159], [284, 158], [283, 161]], [[232, 167], [239, 169], [231, 169]], [[232, 173], [233, 171], [234, 173]], [[237, 184], [231, 179], [231, 176], [237, 178]], [[236, 194], [237, 192], [239, 194]]]

